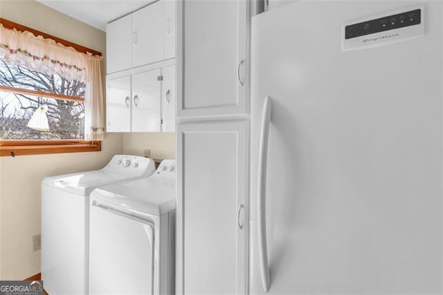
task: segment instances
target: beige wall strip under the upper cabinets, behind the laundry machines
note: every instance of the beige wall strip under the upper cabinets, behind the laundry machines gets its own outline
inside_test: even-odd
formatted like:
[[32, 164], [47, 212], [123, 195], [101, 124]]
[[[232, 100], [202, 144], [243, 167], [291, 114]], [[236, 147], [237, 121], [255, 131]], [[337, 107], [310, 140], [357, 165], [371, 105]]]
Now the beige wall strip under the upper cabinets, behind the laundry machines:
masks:
[[152, 159], [175, 159], [175, 133], [125, 133], [123, 152], [144, 156], [151, 150]]

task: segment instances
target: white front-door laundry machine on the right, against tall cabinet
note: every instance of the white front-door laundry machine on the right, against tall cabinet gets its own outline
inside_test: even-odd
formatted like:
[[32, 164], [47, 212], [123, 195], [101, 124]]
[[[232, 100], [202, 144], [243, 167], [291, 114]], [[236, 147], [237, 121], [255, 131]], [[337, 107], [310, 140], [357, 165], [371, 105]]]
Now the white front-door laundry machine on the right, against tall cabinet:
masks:
[[90, 294], [174, 294], [175, 168], [91, 193]]

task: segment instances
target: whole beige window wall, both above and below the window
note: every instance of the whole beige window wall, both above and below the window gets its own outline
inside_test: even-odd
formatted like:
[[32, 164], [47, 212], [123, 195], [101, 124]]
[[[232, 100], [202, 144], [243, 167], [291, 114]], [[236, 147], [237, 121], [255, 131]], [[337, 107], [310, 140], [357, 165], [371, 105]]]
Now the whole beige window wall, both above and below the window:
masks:
[[[80, 3], [80, 2], [79, 2]], [[105, 53], [105, 33], [35, 1], [1, 0], [0, 17]], [[40, 182], [48, 175], [101, 168], [123, 152], [123, 134], [107, 134], [102, 152], [0, 158], [0, 280], [40, 271]]]

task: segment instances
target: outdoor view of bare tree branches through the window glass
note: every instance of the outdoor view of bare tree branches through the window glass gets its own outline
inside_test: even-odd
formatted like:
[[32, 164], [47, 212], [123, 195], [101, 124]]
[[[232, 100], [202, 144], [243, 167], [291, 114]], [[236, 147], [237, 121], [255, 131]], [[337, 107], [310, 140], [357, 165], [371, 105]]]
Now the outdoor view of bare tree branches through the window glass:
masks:
[[[84, 98], [86, 83], [0, 62], [0, 85]], [[34, 111], [48, 105], [49, 131], [27, 127]], [[84, 139], [84, 102], [0, 90], [0, 140]]]

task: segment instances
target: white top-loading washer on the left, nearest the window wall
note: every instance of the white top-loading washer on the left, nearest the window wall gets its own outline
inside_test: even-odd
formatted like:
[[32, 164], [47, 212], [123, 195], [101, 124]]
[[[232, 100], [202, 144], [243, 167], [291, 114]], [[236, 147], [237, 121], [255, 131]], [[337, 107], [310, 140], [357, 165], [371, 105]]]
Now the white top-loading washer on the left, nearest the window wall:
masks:
[[116, 155], [101, 170], [42, 181], [42, 280], [48, 294], [88, 294], [91, 191], [154, 171], [152, 159]]

